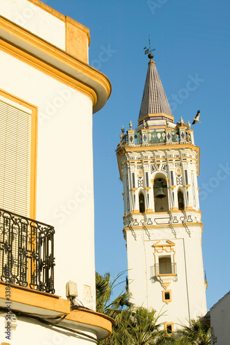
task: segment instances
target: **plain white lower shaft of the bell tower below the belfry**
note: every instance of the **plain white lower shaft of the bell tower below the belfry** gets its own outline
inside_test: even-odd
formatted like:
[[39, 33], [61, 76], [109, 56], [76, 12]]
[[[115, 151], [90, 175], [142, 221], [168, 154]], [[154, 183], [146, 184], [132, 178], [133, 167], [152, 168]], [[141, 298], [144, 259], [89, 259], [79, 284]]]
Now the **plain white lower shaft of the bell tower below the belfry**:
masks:
[[[188, 319], [196, 319], [207, 312], [204, 272], [202, 270], [202, 253], [200, 246], [200, 230], [193, 228], [189, 237], [185, 228], [175, 238], [169, 228], [149, 231], [151, 239], [142, 230], [134, 230], [136, 239], [127, 232], [128, 279], [132, 302], [137, 306], [154, 308], [163, 314], [159, 322], [173, 322], [174, 329], [186, 324]], [[164, 279], [171, 282], [166, 290], [171, 290], [172, 302], [162, 302], [164, 287], [160, 281], [153, 279], [155, 264], [153, 244], [159, 240], [169, 239], [175, 243], [175, 264], [177, 279]], [[194, 250], [194, 248], [198, 248]], [[162, 252], [162, 255], [169, 253]]]

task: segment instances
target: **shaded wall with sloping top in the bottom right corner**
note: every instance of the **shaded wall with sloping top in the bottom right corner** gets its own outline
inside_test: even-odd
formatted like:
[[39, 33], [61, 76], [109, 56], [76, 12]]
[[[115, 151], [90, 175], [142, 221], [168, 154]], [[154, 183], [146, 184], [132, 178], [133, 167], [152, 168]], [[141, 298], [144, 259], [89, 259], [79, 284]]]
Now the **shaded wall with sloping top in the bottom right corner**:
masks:
[[210, 309], [212, 344], [229, 344], [230, 291]]

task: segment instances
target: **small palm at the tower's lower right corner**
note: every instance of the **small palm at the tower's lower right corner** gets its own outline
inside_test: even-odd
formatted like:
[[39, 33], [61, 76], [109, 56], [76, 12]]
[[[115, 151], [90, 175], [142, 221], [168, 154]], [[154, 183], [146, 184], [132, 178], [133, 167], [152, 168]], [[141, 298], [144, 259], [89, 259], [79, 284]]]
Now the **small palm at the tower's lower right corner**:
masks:
[[211, 328], [199, 320], [191, 319], [190, 326], [182, 325], [177, 331], [182, 344], [209, 345], [211, 344]]

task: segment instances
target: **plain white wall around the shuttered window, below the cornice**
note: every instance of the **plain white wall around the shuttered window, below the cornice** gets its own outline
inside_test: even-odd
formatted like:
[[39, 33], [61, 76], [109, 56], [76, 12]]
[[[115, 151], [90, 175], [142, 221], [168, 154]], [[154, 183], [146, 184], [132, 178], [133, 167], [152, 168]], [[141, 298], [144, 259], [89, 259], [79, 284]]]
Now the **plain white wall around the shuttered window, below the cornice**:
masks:
[[[55, 290], [95, 308], [92, 101], [0, 52], [1, 88], [39, 108], [37, 220], [55, 226]], [[87, 295], [88, 286], [91, 297]]]

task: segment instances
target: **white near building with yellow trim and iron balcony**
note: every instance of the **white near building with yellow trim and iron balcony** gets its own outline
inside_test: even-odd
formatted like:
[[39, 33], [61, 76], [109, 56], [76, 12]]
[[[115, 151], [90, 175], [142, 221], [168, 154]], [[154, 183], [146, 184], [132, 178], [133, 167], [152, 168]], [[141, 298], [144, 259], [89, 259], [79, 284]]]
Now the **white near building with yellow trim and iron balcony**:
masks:
[[88, 28], [39, 0], [0, 5], [0, 344], [96, 343], [111, 319], [95, 312], [93, 112], [111, 83]]

